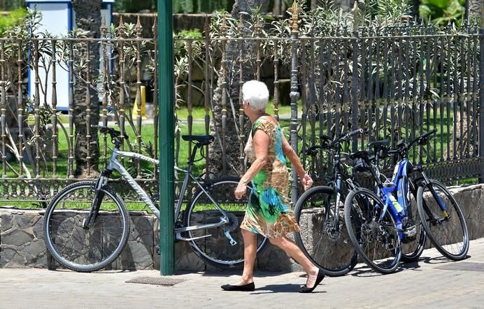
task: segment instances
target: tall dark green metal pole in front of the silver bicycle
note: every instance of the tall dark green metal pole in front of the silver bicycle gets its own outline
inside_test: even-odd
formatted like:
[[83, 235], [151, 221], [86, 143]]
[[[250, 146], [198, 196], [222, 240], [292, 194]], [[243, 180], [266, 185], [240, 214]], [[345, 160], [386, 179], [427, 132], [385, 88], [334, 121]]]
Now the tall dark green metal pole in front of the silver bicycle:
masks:
[[172, 0], [158, 0], [159, 271], [175, 271]]

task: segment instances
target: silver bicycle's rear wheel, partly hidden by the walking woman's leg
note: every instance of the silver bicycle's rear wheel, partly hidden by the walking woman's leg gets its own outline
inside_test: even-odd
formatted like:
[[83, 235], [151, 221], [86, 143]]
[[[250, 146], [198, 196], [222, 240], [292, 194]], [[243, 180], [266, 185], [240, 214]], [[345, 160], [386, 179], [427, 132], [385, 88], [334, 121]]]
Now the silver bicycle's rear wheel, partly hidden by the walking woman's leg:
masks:
[[[193, 196], [185, 214], [185, 226], [195, 227], [204, 224], [216, 224], [222, 220], [222, 213], [215, 206], [215, 201], [228, 215], [228, 221], [218, 227], [208, 227], [188, 231], [190, 245], [194, 252], [213, 266], [232, 268], [243, 266], [243, 237], [241, 222], [245, 215], [251, 187], [242, 199], [235, 199], [235, 189], [239, 178], [220, 178], [211, 181], [204, 187], [209, 196], [199, 190]], [[213, 199], [213, 201], [211, 201]], [[235, 240], [232, 245], [230, 238]], [[266, 245], [264, 236], [257, 234], [257, 252]]]

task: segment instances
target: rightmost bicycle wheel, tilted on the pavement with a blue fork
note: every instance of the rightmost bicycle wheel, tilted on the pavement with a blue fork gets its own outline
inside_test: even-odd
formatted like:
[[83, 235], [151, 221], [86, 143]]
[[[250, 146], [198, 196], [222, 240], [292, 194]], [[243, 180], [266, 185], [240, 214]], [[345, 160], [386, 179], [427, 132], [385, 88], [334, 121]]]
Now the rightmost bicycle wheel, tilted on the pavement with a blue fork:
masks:
[[[425, 189], [427, 189], [426, 192]], [[434, 195], [434, 192], [435, 194], [438, 193], [437, 190], [441, 194], [439, 199], [446, 203], [447, 218], [441, 211]], [[424, 199], [424, 194], [427, 195], [427, 200]], [[418, 187], [417, 206], [422, 225], [436, 249], [444, 257], [453, 261], [464, 259], [469, 250], [469, 231], [459, 204], [446, 186], [437, 180], [429, 180], [428, 183], [422, 183]], [[457, 243], [454, 243], [454, 241], [457, 241]], [[461, 243], [462, 245], [460, 245]], [[450, 252], [453, 247], [457, 247], [457, 252]]]

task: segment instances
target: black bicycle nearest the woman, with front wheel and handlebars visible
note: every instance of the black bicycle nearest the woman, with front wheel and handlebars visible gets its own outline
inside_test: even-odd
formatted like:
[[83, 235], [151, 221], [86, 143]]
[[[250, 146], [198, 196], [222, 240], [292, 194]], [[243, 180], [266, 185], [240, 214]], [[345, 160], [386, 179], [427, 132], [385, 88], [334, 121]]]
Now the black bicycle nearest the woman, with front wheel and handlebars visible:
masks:
[[341, 144], [362, 133], [362, 129], [357, 129], [334, 141], [320, 136], [320, 145], [306, 150], [312, 157], [328, 152], [333, 159], [333, 173], [329, 174], [327, 185], [312, 187], [299, 197], [294, 215], [301, 232], [294, 233], [294, 238], [306, 257], [329, 276], [345, 275], [357, 264], [357, 252], [344, 223], [343, 203], [348, 189], [359, 185], [355, 173], [349, 174], [343, 167]]

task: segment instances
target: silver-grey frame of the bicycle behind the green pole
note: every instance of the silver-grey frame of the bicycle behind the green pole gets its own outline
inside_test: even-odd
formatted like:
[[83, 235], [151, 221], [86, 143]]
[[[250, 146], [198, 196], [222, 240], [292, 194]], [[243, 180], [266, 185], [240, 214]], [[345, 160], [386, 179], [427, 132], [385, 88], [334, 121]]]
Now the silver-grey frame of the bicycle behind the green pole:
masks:
[[[220, 214], [221, 214], [220, 221], [216, 222], [216, 223], [202, 224], [202, 225], [190, 226], [190, 227], [176, 227], [175, 233], [176, 233], [176, 238], [178, 240], [192, 240], [192, 239], [211, 236], [211, 235], [206, 235], [206, 236], [201, 236], [201, 237], [197, 237], [197, 238], [184, 238], [183, 236], [180, 235], [180, 233], [187, 232], [187, 231], [195, 231], [195, 230], [199, 230], [199, 229], [211, 229], [211, 228], [215, 228], [215, 227], [220, 227], [223, 224], [227, 224], [229, 222], [229, 217], [227, 216], [227, 213], [225, 213], [225, 211], [218, 205], [217, 201], [215, 201], [212, 198], [212, 196], [206, 191], [204, 186], [201, 185], [201, 183], [199, 182], [199, 179], [195, 178], [192, 175], [194, 157], [197, 154], [198, 148], [199, 148], [199, 145], [196, 144], [194, 146], [194, 149], [193, 149], [193, 152], [192, 152], [192, 157], [190, 157], [190, 161], [189, 161], [187, 170], [184, 170], [183, 168], [178, 168], [177, 166], [175, 166], [176, 171], [180, 171], [182, 173], [185, 173], [185, 179], [183, 180], [183, 185], [182, 185], [182, 188], [181, 188], [181, 191], [180, 191], [178, 203], [176, 204], [174, 220], [176, 222], [177, 219], [178, 219], [178, 216], [180, 215], [180, 210], [181, 210], [183, 200], [185, 198], [185, 192], [186, 192], [186, 189], [187, 189], [188, 181], [191, 178], [197, 184], [197, 186], [201, 189], [201, 191], [204, 192], [204, 194], [206, 194], [206, 196], [208, 196], [208, 199], [211, 200], [211, 202], [215, 205], [215, 207], [220, 211]], [[159, 220], [159, 210], [158, 210], [157, 206], [155, 206], [155, 204], [151, 201], [148, 194], [146, 194], [146, 192], [143, 190], [143, 188], [140, 185], [138, 185], [138, 183], [134, 180], [134, 178], [132, 178], [131, 175], [129, 175], [126, 168], [124, 168], [124, 166], [120, 163], [120, 161], [118, 161], [118, 156], [141, 159], [143, 161], [148, 161], [152, 164], [155, 164], [156, 166], [158, 166], [158, 164], [159, 164], [157, 159], [152, 159], [150, 157], [146, 157], [144, 155], [140, 155], [140, 154], [135, 153], [135, 152], [121, 151], [121, 150], [119, 150], [118, 147], [115, 147], [113, 149], [113, 153], [111, 155], [111, 159], [109, 160], [109, 164], [108, 164], [106, 170], [101, 173], [101, 175], [99, 176], [99, 178], [96, 182], [96, 185], [94, 187], [94, 189], [96, 190], [96, 194], [95, 194], [94, 201], [93, 201], [93, 208], [99, 209], [99, 206], [95, 205], [95, 203], [97, 203], [97, 200], [98, 200], [99, 189], [102, 186], [107, 185], [109, 177], [110, 177], [110, 175], [113, 171], [118, 171], [118, 173], [120, 173], [122, 175], [122, 177], [127, 180], [128, 184], [131, 186], [131, 188], [134, 189], [136, 194], [138, 194], [138, 196], [141, 198], [141, 200], [143, 202], [145, 202], [146, 205], [148, 205], [148, 207], [152, 210], [153, 214]], [[89, 218], [89, 220], [90, 220], [90, 218]], [[232, 239], [231, 236], [227, 236], [227, 238], [229, 238], [229, 240], [231, 240], [231, 243], [235, 241], [235, 240]]]

